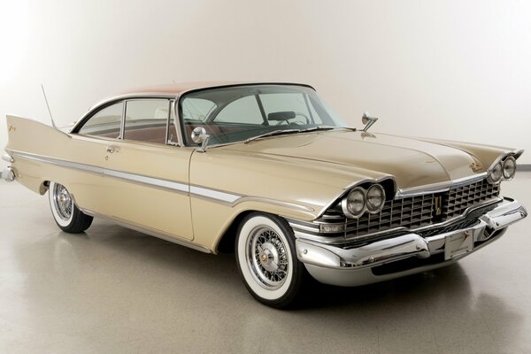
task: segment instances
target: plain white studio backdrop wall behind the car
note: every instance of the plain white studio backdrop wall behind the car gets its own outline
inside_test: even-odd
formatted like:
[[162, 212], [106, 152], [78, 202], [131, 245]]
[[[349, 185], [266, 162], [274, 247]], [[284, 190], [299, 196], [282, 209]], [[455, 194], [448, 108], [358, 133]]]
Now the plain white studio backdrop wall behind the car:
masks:
[[58, 125], [122, 89], [302, 81], [353, 126], [524, 148], [531, 2], [0, 0], [5, 114]]

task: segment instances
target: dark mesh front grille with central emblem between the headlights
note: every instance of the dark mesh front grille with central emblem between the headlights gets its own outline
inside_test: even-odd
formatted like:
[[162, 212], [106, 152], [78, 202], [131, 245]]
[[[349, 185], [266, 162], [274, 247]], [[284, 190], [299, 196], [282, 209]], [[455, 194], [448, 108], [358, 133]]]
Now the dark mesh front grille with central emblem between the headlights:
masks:
[[[387, 201], [381, 212], [365, 213], [359, 219], [346, 219], [341, 207], [335, 206], [323, 214], [320, 222], [346, 223], [348, 238], [369, 235], [396, 227], [415, 229], [427, 227], [466, 212], [471, 206], [481, 204], [500, 194], [499, 185], [492, 185], [487, 180], [452, 187], [439, 193], [422, 196], [408, 196]], [[435, 202], [441, 203], [440, 210], [435, 209]]]

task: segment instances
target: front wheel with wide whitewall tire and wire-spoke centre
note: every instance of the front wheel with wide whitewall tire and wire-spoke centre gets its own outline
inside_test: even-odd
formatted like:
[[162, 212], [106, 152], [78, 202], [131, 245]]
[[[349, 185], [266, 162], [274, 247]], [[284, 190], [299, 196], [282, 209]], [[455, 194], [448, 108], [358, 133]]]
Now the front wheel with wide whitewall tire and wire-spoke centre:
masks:
[[254, 212], [242, 220], [235, 243], [238, 270], [250, 295], [276, 308], [294, 304], [305, 269], [296, 257], [289, 225], [272, 215]]

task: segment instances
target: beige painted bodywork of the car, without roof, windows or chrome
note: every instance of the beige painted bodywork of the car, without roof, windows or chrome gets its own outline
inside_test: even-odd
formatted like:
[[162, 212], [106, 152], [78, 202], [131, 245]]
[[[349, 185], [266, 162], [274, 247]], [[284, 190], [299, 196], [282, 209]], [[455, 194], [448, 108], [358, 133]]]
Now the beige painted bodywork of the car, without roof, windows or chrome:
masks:
[[[13, 116], [7, 117], [6, 130], [6, 150], [11, 153], [241, 196], [232, 204], [219, 202], [15, 156], [12, 168], [17, 181], [28, 189], [42, 194], [45, 181], [59, 182], [83, 211], [193, 241], [214, 252], [220, 237], [242, 212], [312, 220], [359, 182], [393, 178], [396, 189], [421, 188], [484, 173], [496, 158], [515, 151], [335, 130], [239, 142], [201, 153], [194, 148], [65, 134]], [[481, 165], [481, 169], [473, 171], [472, 165]]]

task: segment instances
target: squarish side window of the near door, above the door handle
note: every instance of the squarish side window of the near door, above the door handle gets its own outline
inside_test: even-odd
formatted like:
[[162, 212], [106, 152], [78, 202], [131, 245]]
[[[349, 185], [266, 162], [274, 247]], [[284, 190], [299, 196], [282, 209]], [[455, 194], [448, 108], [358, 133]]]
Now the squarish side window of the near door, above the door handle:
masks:
[[124, 139], [164, 144], [169, 112], [170, 101], [166, 99], [127, 101]]

